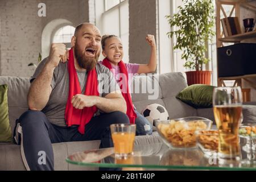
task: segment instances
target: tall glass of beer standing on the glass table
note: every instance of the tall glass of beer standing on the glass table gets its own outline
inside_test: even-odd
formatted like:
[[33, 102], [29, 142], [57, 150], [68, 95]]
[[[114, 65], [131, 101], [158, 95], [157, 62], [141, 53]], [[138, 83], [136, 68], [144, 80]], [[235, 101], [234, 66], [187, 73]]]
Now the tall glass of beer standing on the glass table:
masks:
[[238, 135], [242, 119], [242, 92], [238, 87], [219, 87], [213, 91], [213, 113], [218, 127], [218, 159], [240, 160]]

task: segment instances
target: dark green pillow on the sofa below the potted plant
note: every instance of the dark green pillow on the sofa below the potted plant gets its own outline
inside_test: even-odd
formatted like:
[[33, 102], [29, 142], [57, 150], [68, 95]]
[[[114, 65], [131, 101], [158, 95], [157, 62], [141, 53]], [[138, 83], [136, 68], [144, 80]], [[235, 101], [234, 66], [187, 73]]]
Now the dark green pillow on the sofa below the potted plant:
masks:
[[212, 107], [212, 95], [214, 86], [191, 85], [177, 94], [176, 98], [195, 108]]

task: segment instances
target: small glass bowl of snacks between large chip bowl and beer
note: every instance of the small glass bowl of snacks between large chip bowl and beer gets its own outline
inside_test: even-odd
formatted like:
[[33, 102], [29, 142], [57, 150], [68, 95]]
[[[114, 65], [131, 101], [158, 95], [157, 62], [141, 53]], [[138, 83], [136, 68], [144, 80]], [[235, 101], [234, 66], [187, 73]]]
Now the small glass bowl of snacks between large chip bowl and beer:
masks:
[[207, 156], [216, 155], [218, 152], [218, 130], [196, 131], [196, 140], [199, 148]]

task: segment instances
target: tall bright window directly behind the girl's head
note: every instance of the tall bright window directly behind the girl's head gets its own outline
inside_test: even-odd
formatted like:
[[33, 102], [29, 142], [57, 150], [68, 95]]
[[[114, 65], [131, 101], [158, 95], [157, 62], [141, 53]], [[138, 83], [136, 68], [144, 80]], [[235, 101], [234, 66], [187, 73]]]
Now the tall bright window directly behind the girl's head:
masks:
[[[129, 3], [128, 0], [96, 1], [96, 26], [101, 34], [117, 35], [123, 44], [123, 61], [129, 62]], [[103, 57], [100, 57], [102, 59]]]

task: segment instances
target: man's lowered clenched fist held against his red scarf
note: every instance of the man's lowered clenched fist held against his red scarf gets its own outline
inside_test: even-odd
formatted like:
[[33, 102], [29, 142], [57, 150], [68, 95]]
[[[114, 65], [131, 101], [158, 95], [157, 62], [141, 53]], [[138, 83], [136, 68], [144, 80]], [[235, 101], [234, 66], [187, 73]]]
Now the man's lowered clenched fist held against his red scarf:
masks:
[[76, 109], [84, 109], [84, 107], [92, 107], [96, 105], [97, 97], [95, 96], [85, 96], [83, 94], [76, 94], [72, 98], [72, 105]]

